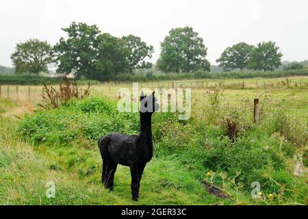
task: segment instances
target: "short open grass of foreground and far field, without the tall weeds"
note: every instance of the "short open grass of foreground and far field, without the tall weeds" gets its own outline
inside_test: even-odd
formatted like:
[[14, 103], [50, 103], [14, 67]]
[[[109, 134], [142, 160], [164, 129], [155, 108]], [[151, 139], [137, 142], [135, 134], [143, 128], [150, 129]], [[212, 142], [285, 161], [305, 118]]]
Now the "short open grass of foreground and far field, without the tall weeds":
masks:
[[[253, 100], [265, 92], [264, 81], [268, 83], [269, 94], [274, 104], [282, 106], [290, 114], [308, 121], [308, 77], [294, 77], [289, 85], [287, 79], [241, 79], [207, 80], [207, 88], [224, 82], [224, 94], [233, 104], [240, 99]], [[244, 88], [242, 82], [244, 81]], [[165, 81], [165, 86], [172, 86]], [[192, 97], [203, 96], [207, 88], [196, 90], [194, 81], [182, 83], [192, 86]], [[206, 83], [205, 83], [206, 85]], [[238, 87], [236, 87], [238, 85]], [[142, 87], [159, 86], [157, 82], [141, 83]], [[236, 88], [231, 88], [235, 86]], [[255, 86], [255, 87], [254, 87]], [[5, 86], [2, 86], [5, 87]], [[30, 87], [30, 99], [28, 96]], [[93, 96], [108, 96], [116, 99], [120, 87], [131, 88], [131, 83], [102, 83], [92, 86]], [[3, 89], [4, 90], [4, 89]], [[140, 187], [140, 201], [131, 201], [129, 168], [119, 166], [115, 177], [114, 192], [101, 185], [101, 157], [96, 146], [86, 149], [82, 146], [66, 147], [53, 145], [34, 146], [14, 136], [12, 130], [25, 114], [34, 114], [42, 100], [42, 86], [19, 86], [18, 96], [11, 87], [10, 100], [0, 98], [0, 204], [23, 205], [232, 205], [229, 198], [214, 188], [196, 179], [190, 166], [183, 166], [175, 156], [155, 157], [144, 170]], [[5, 93], [2, 92], [2, 96]], [[196, 103], [198, 104], [198, 103]], [[162, 172], [161, 170], [164, 170]], [[91, 173], [91, 174], [89, 174]], [[46, 183], [55, 182], [56, 198], [47, 198]], [[207, 192], [207, 189], [214, 192]], [[218, 193], [218, 196], [215, 194]], [[242, 200], [247, 194], [239, 194]]]

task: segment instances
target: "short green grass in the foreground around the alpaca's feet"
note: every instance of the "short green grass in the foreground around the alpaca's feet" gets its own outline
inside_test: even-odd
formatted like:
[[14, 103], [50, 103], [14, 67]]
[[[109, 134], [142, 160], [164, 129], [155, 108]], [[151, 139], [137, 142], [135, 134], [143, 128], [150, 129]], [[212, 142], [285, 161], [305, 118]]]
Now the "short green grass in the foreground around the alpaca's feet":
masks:
[[[14, 104], [1, 101], [5, 109]], [[1, 118], [1, 125], [12, 122]], [[0, 135], [1, 205], [207, 205], [221, 201], [207, 194], [176, 159], [153, 159], [144, 170], [140, 201], [131, 201], [129, 168], [119, 166], [114, 192], [101, 185], [101, 157], [84, 146], [32, 146], [12, 136], [5, 125]], [[164, 170], [164, 171], [162, 171]], [[55, 198], [46, 198], [46, 183], [55, 182]]]

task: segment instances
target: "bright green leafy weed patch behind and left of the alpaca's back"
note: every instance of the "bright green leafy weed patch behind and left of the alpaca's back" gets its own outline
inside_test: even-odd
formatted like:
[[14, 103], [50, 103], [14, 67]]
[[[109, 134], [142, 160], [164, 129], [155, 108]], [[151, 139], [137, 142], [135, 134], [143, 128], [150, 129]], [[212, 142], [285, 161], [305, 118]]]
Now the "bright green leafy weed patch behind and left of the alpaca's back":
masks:
[[68, 144], [97, 141], [106, 133], [136, 133], [138, 114], [119, 114], [116, 104], [107, 99], [72, 99], [58, 110], [40, 110], [25, 116], [18, 126], [26, 138], [38, 143]]

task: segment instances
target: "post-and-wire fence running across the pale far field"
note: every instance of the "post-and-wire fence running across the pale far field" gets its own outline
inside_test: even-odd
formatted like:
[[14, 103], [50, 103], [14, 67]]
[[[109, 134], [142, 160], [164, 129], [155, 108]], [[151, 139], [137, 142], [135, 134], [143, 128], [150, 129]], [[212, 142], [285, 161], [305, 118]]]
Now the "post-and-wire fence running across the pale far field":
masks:
[[[101, 90], [104, 94], [114, 93], [118, 88], [127, 87], [131, 83], [103, 83], [92, 86], [93, 90]], [[139, 83], [139, 88], [192, 88], [194, 90], [219, 86], [224, 89], [270, 89], [270, 88], [308, 88], [308, 81], [302, 79], [285, 79], [275, 81], [162, 81]], [[1, 86], [0, 97], [8, 99], [42, 100], [43, 86]], [[95, 92], [95, 91], [94, 91]], [[99, 92], [98, 92], [99, 93]]]

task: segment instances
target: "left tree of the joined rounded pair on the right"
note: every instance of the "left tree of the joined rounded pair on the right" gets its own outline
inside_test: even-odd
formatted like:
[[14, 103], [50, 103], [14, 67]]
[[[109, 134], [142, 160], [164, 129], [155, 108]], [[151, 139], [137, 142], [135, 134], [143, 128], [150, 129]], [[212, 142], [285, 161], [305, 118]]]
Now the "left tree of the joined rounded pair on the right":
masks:
[[240, 42], [225, 49], [216, 62], [219, 62], [219, 66], [224, 70], [233, 70], [235, 68], [243, 70], [248, 66], [252, 49], [253, 46], [246, 44], [246, 42]]

